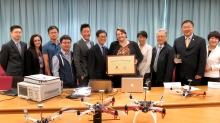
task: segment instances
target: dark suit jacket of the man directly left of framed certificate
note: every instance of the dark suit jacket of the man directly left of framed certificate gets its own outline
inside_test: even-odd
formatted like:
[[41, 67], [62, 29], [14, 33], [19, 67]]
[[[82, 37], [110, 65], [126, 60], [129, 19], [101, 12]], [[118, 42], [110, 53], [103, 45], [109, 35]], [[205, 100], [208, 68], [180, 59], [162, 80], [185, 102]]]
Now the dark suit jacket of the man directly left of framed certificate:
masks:
[[105, 47], [105, 58], [98, 44], [88, 51], [88, 70], [90, 79], [106, 79], [106, 56], [108, 48]]

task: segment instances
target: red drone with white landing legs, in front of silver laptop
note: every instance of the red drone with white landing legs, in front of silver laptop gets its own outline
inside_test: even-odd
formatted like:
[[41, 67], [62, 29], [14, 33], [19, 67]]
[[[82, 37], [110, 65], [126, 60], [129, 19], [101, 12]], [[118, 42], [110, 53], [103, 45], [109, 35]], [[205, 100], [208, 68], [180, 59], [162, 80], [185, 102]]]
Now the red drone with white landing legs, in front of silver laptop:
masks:
[[152, 102], [152, 101], [146, 101], [146, 91], [145, 91], [145, 99], [144, 101], [138, 101], [136, 99], [134, 99], [132, 97], [132, 95], [130, 94], [129, 96], [130, 100], [133, 101], [135, 104], [130, 104], [130, 105], [125, 105], [125, 113], [128, 114], [128, 111], [133, 110], [135, 111], [135, 116], [133, 119], [133, 123], [135, 123], [136, 121], [136, 117], [139, 114], [139, 111], [141, 110], [143, 113], [147, 113], [150, 111], [153, 119], [154, 119], [154, 123], [156, 123], [156, 113], [160, 113], [162, 114], [162, 118], [165, 117], [166, 115], [166, 109], [161, 108], [161, 107], [155, 107], [158, 103], [162, 103], [164, 102], [164, 96], [161, 96], [161, 99], [159, 101], [156, 102]]

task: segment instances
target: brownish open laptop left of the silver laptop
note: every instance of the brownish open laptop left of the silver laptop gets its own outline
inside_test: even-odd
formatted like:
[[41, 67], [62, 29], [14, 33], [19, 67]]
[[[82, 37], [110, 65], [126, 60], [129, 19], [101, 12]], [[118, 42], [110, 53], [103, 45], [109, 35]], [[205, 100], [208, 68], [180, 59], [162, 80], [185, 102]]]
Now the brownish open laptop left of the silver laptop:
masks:
[[108, 79], [90, 79], [89, 86], [91, 92], [99, 92], [104, 90], [105, 93], [112, 92], [112, 81]]

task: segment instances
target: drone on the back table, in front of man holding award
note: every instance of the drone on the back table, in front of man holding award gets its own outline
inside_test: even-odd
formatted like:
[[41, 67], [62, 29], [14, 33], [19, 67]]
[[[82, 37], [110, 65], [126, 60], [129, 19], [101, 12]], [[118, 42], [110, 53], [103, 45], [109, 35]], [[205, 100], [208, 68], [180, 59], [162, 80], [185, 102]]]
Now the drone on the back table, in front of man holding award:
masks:
[[191, 83], [192, 83], [192, 80], [191, 79], [188, 79], [187, 81], [189, 81], [189, 89], [184, 89], [183, 91], [178, 91], [178, 90], [173, 90], [173, 88], [171, 87], [170, 90], [174, 91], [176, 94], [181, 94], [182, 97], [191, 97], [191, 96], [203, 96], [203, 98], [205, 98], [206, 96], [206, 92], [204, 91], [203, 93], [196, 93], [196, 92], [193, 92], [193, 89], [191, 87]]

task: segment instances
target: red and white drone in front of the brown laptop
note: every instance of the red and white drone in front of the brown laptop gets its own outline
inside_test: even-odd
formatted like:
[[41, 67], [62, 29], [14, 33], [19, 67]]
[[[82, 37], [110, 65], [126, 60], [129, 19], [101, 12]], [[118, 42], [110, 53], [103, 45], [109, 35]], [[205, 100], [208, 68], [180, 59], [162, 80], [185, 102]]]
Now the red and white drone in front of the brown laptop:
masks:
[[[102, 95], [103, 95], [103, 93], [102, 93]], [[104, 101], [108, 101], [108, 102], [104, 102]], [[107, 113], [107, 114], [113, 115], [114, 116], [114, 120], [117, 119], [119, 113], [126, 115], [124, 111], [115, 110], [115, 109], [110, 107], [110, 105], [114, 106], [114, 102], [115, 102], [115, 98], [114, 97], [106, 98], [105, 100], [103, 100], [103, 96], [102, 96], [102, 102], [101, 103], [100, 102], [96, 102], [95, 104], [91, 104], [89, 102], [85, 102], [84, 98], [82, 97], [81, 98], [81, 102], [82, 102], [82, 105], [85, 104], [86, 106], [89, 107], [89, 109], [84, 111], [84, 112], [80, 112], [79, 110], [77, 111], [77, 116], [78, 116], [79, 120], [80, 120], [80, 117], [82, 115], [89, 114], [90, 112], [92, 112], [94, 115], [100, 116], [100, 119], [101, 119], [101, 114], [102, 113]]]

